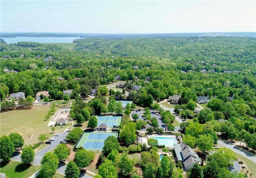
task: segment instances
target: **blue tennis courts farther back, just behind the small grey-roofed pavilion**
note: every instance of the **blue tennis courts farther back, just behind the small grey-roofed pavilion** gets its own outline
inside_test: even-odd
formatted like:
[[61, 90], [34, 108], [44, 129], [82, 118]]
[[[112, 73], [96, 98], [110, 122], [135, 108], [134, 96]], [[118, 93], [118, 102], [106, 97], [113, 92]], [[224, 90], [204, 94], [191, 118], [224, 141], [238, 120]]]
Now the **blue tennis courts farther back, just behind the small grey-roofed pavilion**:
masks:
[[98, 119], [98, 126], [106, 124], [109, 128], [118, 127], [122, 121], [120, 115], [96, 115]]

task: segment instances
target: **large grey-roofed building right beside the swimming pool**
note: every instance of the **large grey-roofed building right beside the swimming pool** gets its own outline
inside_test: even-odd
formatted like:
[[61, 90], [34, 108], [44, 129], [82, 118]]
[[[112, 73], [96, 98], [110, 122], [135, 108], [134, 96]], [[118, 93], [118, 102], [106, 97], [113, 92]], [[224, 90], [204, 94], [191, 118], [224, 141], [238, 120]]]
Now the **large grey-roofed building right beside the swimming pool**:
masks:
[[189, 170], [195, 163], [198, 164], [201, 162], [201, 158], [197, 153], [186, 143], [181, 145], [173, 144], [175, 152], [175, 161], [181, 162], [184, 165], [185, 170]]

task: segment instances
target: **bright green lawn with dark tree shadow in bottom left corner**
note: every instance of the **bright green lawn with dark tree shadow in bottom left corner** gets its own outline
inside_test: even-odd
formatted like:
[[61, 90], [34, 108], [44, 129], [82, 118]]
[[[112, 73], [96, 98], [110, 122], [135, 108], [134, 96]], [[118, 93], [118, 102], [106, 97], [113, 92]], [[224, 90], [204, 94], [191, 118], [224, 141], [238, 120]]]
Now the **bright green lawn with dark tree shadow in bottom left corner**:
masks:
[[34, 174], [40, 166], [33, 165], [29, 168], [24, 168], [21, 162], [10, 161], [8, 164], [2, 164], [0, 166], [0, 172], [5, 173], [10, 178], [28, 178]]

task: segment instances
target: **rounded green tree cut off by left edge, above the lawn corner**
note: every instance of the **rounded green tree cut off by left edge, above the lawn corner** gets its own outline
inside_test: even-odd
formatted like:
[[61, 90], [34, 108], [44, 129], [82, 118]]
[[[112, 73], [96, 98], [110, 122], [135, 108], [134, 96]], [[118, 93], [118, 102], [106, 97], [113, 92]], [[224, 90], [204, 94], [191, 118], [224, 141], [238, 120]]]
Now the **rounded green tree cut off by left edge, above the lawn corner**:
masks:
[[14, 144], [10, 137], [3, 135], [0, 137], [0, 158], [6, 162], [12, 158], [12, 153], [14, 153]]

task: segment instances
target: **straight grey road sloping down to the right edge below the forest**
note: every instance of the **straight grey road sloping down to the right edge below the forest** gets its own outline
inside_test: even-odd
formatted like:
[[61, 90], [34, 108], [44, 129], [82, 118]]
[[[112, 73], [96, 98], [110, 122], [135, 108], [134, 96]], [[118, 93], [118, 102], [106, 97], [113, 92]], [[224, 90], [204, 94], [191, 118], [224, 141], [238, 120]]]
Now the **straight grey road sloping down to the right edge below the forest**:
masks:
[[248, 153], [247, 151], [243, 151], [243, 150], [241, 150], [238, 147], [235, 147], [235, 145], [232, 144], [232, 143], [226, 143], [226, 142], [224, 142], [222, 140], [218, 140], [218, 144], [223, 146], [223, 147], [226, 147], [228, 149], [231, 149], [232, 151], [238, 153], [239, 155], [242, 155], [242, 156], [248, 158], [249, 160], [251, 160], [253, 162], [256, 162], [256, 156]]

